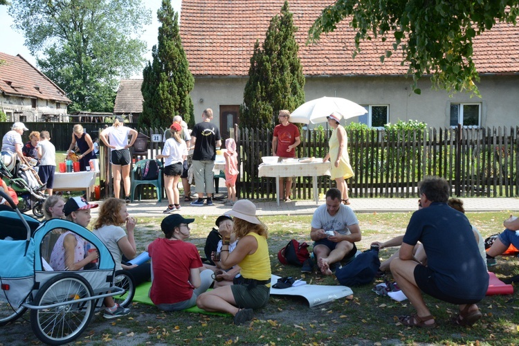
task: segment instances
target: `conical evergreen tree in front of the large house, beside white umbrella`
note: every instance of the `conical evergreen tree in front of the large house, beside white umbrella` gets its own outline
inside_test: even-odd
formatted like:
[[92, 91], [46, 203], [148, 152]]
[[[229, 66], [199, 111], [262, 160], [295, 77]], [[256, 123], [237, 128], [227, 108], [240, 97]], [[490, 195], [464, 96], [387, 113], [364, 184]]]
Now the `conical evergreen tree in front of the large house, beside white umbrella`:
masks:
[[263, 48], [256, 42], [240, 107], [240, 126], [273, 129], [282, 109], [293, 111], [304, 102], [304, 75], [298, 57], [288, 1], [271, 19]]

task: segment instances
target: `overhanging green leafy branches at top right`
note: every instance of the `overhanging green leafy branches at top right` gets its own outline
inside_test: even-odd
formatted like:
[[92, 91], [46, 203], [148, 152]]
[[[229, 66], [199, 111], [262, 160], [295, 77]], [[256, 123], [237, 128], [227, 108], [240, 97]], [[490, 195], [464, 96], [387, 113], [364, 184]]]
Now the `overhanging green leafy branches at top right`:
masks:
[[[337, 0], [322, 10], [309, 30], [309, 40], [329, 33], [336, 24], [349, 20], [357, 30], [356, 53], [360, 43], [372, 37], [394, 41], [393, 51], [403, 52], [403, 64], [414, 80], [432, 74], [432, 82], [447, 91], [478, 93], [472, 60], [473, 38], [490, 30], [495, 21], [516, 24], [518, 0]], [[390, 57], [392, 51], [381, 56]]]

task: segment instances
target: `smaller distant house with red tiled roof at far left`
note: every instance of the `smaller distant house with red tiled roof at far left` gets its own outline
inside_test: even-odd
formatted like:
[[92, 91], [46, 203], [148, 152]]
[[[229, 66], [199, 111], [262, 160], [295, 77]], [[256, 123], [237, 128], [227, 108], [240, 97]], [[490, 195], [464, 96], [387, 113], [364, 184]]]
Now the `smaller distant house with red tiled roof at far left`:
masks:
[[8, 121], [69, 121], [72, 101], [52, 80], [21, 55], [0, 53], [0, 62], [0, 109]]

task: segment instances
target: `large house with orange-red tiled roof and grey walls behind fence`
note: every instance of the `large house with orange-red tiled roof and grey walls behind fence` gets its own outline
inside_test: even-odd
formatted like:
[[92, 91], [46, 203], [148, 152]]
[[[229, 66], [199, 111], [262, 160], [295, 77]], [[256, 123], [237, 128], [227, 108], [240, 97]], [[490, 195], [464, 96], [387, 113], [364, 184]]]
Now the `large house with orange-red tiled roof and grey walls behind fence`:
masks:
[[[212, 108], [215, 122], [226, 134], [239, 121], [250, 58], [256, 40], [264, 42], [272, 17], [280, 14], [284, 0], [183, 0], [180, 33], [194, 75], [194, 115]], [[306, 100], [322, 96], [347, 98], [362, 104], [368, 113], [352, 121], [378, 127], [398, 120], [419, 120], [431, 127], [458, 122], [481, 127], [516, 126], [519, 109], [519, 26], [497, 23], [477, 37], [474, 57], [481, 98], [431, 89], [430, 80], [419, 81], [421, 95], [410, 89], [406, 66], [399, 54], [380, 57], [391, 42], [379, 39], [361, 43], [353, 57], [355, 32], [345, 20], [320, 42], [305, 46], [307, 33], [320, 11], [333, 0], [289, 2], [299, 30], [296, 39], [306, 77]], [[389, 41], [389, 40], [388, 40]]]

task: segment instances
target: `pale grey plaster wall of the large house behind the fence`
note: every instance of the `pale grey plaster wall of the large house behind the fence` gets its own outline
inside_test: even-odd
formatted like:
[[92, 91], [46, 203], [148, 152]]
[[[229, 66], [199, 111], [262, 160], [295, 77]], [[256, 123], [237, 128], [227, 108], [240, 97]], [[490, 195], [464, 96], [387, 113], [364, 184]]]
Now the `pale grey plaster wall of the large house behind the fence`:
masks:
[[[307, 78], [306, 100], [322, 96], [347, 98], [358, 104], [388, 104], [389, 121], [419, 120], [430, 127], [448, 127], [451, 103], [481, 104], [482, 127], [516, 127], [519, 125], [519, 75], [482, 76], [481, 98], [468, 93], [449, 97], [443, 90], [430, 88], [421, 80], [421, 95], [410, 89], [412, 80], [401, 77], [319, 77]], [[219, 106], [242, 104], [246, 78], [197, 78], [191, 97], [195, 121], [201, 121], [203, 109], [211, 108], [219, 124]], [[203, 102], [201, 102], [203, 100]], [[356, 121], [353, 118], [352, 121]]]

